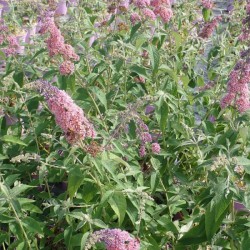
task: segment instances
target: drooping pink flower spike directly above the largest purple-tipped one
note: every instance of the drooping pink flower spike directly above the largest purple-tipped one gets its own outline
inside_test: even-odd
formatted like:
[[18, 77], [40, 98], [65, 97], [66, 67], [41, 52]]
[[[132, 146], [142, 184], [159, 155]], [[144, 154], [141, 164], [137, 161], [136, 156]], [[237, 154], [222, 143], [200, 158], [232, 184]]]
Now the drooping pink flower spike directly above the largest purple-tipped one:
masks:
[[41, 34], [49, 33], [50, 36], [46, 40], [49, 55], [61, 55], [64, 62], [60, 65], [60, 73], [62, 75], [71, 75], [74, 73], [75, 67], [72, 61], [78, 61], [79, 56], [74, 52], [71, 45], [66, 44], [61, 31], [57, 28], [54, 21], [54, 12], [47, 12], [43, 18], [40, 29]]

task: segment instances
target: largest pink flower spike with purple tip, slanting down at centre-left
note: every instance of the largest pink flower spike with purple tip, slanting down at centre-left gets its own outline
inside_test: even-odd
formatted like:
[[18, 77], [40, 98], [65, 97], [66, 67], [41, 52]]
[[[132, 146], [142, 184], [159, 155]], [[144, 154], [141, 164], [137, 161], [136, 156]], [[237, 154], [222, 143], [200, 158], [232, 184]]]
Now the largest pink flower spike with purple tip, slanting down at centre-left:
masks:
[[64, 131], [66, 140], [70, 144], [75, 144], [85, 137], [95, 137], [93, 125], [65, 91], [47, 81], [37, 81], [36, 87], [45, 97], [50, 111], [55, 115], [56, 123]]

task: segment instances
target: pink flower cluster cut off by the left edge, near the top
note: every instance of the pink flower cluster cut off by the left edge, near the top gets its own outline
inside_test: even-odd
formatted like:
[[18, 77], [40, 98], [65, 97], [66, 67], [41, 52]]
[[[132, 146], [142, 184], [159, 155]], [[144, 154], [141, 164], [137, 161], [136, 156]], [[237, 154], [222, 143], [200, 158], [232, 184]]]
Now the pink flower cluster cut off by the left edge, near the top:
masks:
[[4, 45], [2, 51], [6, 56], [18, 54], [21, 47], [17, 36], [10, 33], [2, 19], [0, 19], [0, 45]]

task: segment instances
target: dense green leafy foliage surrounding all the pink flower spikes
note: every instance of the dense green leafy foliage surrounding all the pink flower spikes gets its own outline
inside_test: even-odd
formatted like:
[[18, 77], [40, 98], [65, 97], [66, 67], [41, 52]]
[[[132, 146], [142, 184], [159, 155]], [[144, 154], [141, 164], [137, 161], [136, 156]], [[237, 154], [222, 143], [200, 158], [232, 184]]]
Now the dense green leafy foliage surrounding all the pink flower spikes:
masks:
[[[250, 116], [220, 107], [246, 47], [237, 38], [245, 1], [235, 1], [208, 40], [197, 36], [196, 20], [213, 14], [197, 1], [178, 1], [168, 23], [135, 25], [131, 10], [106, 20], [107, 2], [79, 1], [56, 17], [80, 56], [70, 76], [60, 75], [60, 56], [49, 57], [46, 35], [21, 42], [21, 55], [7, 57], [0, 47], [2, 248], [84, 249], [94, 231], [120, 228], [141, 249], [248, 249]], [[11, 1], [4, 20], [13, 34], [48, 8], [38, 4]], [[39, 79], [84, 110], [94, 140], [66, 141]], [[160, 153], [147, 142], [140, 155], [141, 123]]]

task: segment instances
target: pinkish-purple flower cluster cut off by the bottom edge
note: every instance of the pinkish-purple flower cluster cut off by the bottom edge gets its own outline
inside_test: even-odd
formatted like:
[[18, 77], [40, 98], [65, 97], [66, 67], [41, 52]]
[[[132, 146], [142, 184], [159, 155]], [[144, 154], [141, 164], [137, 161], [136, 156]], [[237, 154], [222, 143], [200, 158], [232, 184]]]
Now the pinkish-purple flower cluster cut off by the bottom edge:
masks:
[[107, 250], [139, 250], [140, 242], [121, 229], [102, 229], [91, 234], [85, 250], [91, 249], [98, 242], [105, 243]]

